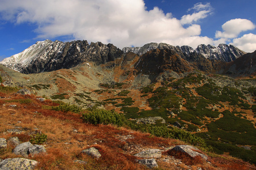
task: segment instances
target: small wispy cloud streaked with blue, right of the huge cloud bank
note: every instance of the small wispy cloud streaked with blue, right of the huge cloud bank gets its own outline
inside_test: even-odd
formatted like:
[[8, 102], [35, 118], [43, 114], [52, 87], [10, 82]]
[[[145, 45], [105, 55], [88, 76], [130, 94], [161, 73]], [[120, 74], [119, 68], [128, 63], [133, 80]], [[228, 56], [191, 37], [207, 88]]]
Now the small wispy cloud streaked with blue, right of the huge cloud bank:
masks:
[[196, 3], [192, 8], [189, 8], [188, 11], [193, 10], [193, 14], [183, 15], [181, 17], [181, 24], [191, 24], [198, 22], [200, 19], [207, 18], [208, 15], [212, 14], [213, 8], [210, 6], [210, 3]]

